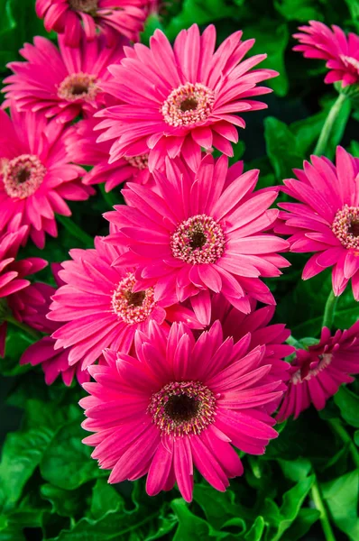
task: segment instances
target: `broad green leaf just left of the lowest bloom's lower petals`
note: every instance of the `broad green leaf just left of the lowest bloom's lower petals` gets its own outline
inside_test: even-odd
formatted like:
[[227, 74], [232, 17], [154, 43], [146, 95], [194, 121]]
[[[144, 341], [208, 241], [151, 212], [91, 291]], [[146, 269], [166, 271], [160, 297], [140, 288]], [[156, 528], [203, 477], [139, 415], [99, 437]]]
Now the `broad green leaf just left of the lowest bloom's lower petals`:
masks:
[[108, 475], [90, 458], [91, 450], [81, 442], [85, 436], [78, 419], [60, 428], [41, 460], [41, 475], [46, 481], [72, 491], [91, 479]]

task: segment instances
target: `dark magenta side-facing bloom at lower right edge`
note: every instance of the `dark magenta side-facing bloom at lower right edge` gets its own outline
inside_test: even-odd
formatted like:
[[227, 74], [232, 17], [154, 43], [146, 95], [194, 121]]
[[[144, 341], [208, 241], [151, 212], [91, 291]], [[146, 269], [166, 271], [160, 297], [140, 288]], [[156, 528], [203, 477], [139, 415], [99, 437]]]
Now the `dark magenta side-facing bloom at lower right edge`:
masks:
[[343, 383], [352, 383], [349, 374], [359, 373], [359, 321], [347, 331], [334, 336], [323, 327], [320, 341], [308, 350], [298, 350], [290, 366], [290, 382], [284, 395], [278, 419], [290, 415], [296, 419], [313, 404], [323, 409]]

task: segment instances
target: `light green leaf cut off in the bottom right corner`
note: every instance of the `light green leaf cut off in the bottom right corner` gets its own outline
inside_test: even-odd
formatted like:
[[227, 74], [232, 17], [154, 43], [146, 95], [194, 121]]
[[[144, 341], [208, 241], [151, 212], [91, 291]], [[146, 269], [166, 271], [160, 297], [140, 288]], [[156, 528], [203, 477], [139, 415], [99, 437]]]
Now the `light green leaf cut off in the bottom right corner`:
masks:
[[336, 526], [350, 539], [359, 539], [358, 491], [359, 470], [334, 481], [322, 483], [321, 490]]

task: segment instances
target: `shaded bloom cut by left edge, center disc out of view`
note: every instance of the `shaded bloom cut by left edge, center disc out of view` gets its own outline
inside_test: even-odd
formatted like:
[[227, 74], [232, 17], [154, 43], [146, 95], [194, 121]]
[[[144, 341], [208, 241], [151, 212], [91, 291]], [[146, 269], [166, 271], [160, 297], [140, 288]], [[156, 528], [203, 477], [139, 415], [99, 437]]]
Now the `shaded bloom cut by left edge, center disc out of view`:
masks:
[[[17, 221], [18, 222], [18, 221]], [[27, 235], [28, 227], [14, 224], [16, 231], [0, 235], [0, 356], [5, 353], [7, 320], [22, 322], [41, 305], [42, 297], [27, 277], [47, 265], [37, 257], [17, 260], [17, 252]]]

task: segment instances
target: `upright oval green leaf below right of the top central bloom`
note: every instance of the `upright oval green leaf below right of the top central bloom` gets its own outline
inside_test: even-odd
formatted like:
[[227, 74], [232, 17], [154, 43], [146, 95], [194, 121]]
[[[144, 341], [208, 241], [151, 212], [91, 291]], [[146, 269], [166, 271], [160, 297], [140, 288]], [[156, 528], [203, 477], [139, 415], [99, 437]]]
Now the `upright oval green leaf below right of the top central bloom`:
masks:
[[273, 116], [264, 120], [264, 137], [267, 154], [278, 180], [292, 176], [293, 168], [301, 168], [303, 156], [290, 128]]

